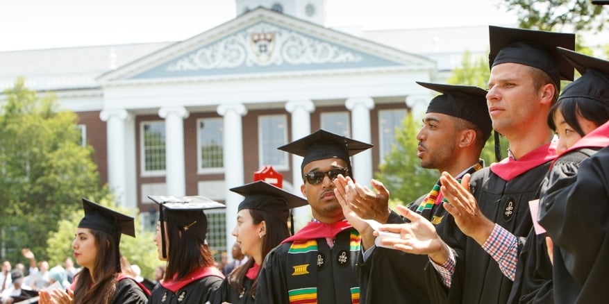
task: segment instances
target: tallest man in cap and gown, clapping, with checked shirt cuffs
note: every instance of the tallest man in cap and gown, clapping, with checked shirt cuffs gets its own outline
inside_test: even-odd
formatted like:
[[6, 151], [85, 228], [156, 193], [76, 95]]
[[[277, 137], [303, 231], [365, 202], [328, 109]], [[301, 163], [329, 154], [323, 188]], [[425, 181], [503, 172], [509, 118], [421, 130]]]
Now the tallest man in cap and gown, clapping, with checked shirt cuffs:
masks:
[[560, 80], [572, 80], [574, 74], [556, 51], [556, 46], [573, 49], [573, 34], [490, 26], [489, 36], [487, 106], [494, 130], [508, 139], [508, 158], [466, 174], [461, 183], [442, 173], [440, 191], [451, 217], [437, 232], [410, 210], [403, 212], [410, 224], [387, 230], [401, 233], [389, 244], [429, 255], [428, 287], [440, 302], [508, 301], [518, 241], [533, 226], [528, 201], [539, 198], [556, 158], [548, 113], [558, 99]]

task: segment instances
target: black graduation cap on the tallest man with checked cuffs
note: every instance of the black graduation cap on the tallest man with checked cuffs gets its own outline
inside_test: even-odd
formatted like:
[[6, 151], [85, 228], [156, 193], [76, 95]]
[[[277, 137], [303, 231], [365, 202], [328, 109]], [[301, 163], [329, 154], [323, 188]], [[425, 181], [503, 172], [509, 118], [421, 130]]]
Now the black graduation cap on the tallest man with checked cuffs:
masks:
[[523, 28], [489, 26], [489, 65], [513, 62], [536, 67], [551, 76], [560, 88], [560, 80], [573, 80], [573, 68], [556, 47], [575, 49], [575, 34], [533, 31]]

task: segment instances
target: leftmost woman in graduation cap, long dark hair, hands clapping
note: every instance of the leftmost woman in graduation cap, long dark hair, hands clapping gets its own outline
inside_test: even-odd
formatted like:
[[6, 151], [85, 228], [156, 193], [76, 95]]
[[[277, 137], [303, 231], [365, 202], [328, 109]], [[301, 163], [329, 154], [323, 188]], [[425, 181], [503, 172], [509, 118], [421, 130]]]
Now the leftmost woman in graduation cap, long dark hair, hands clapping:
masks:
[[83, 199], [85, 217], [72, 242], [76, 262], [83, 267], [75, 278], [74, 292], [53, 289], [40, 292], [40, 303], [147, 303], [147, 289], [121, 272], [121, 234], [135, 237], [133, 217]]

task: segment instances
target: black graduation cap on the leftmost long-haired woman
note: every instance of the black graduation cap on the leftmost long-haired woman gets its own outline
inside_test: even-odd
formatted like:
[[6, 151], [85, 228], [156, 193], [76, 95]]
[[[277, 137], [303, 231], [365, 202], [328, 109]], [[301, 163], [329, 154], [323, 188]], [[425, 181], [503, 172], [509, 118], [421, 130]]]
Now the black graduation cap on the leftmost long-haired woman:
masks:
[[[133, 217], [110, 210], [93, 201], [83, 198], [85, 217], [78, 223], [78, 228], [89, 228], [109, 233], [115, 238], [117, 247], [121, 241], [121, 234], [135, 237], [135, 223]], [[119, 248], [116, 248], [116, 271], [121, 272]]]

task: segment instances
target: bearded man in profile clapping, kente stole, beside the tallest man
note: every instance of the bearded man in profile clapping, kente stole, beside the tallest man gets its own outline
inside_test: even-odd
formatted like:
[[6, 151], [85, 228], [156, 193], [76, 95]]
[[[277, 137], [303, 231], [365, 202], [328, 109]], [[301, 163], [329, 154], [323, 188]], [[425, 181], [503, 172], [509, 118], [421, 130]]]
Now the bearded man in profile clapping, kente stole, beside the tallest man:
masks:
[[[423, 126], [417, 134], [421, 166], [447, 171], [456, 178], [481, 169], [483, 161], [480, 160], [480, 153], [492, 131], [486, 91], [465, 85], [419, 85], [441, 93], [429, 103]], [[377, 186], [378, 183], [375, 180], [372, 183], [378, 194], [387, 194], [386, 189]], [[349, 177], [337, 178], [335, 185], [343, 213], [362, 235], [364, 253], [360, 255], [358, 269], [360, 289], [362, 294], [365, 293], [367, 303], [430, 303], [424, 280], [428, 257], [377, 247], [372, 227], [362, 221], [372, 219], [378, 223], [404, 223], [405, 219], [396, 212], [390, 212], [386, 199], [376, 199], [381, 195], [353, 183]], [[442, 225], [447, 214], [442, 199], [438, 181], [431, 192], [410, 203], [408, 208], [422, 214], [434, 226]], [[372, 235], [373, 239], [368, 241], [371, 244], [366, 242], [367, 235]]]

